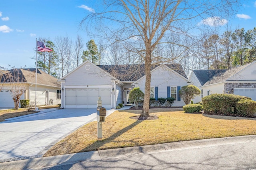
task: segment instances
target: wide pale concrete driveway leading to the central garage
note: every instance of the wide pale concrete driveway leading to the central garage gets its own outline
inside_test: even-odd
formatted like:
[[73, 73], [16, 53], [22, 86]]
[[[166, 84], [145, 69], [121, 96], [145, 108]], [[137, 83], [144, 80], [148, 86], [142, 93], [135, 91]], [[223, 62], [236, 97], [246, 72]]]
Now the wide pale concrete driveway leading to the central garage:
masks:
[[[114, 111], [107, 110], [107, 116]], [[95, 120], [96, 109], [42, 109], [7, 119], [0, 123], [0, 162], [42, 157], [62, 138]]]

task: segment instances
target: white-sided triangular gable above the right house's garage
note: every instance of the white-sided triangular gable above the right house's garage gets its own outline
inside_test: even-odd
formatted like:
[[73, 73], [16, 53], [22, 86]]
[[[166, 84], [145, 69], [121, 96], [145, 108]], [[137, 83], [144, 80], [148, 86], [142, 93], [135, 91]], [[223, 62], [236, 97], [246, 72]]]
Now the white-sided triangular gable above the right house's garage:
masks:
[[256, 80], [256, 63], [254, 62], [250, 66], [247, 66], [241, 72], [228, 78], [228, 80]]

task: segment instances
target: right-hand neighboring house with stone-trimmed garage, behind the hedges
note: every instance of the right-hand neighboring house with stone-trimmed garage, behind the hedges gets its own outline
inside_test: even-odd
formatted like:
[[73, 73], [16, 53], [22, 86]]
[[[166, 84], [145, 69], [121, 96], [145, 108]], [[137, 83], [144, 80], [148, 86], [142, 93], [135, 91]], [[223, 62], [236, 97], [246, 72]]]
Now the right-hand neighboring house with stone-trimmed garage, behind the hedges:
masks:
[[200, 102], [210, 94], [236, 94], [256, 100], [256, 61], [230, 70], [193, 70], [190, 80], [200, 88]]

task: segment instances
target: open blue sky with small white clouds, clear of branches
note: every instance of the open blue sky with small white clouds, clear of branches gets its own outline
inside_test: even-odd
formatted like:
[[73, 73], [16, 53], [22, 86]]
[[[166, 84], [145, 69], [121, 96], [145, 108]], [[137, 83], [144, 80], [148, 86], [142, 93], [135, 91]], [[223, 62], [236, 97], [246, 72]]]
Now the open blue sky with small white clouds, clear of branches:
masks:
[[[0, 0], [0, 66], [34, 68], [35, 61], [30, 57], [35, 56], [39, 37], [50, 37], [53, 41], [57, 36], [67, 35], [74, 41], [76, 35], [81, 35], [86, 44], [93, 37], [88, 37], [79, 23], [97, 8], [99, 1], [92, 0]], [[233, 19], [224, 23], [232, 29], [253, 29], [255, 11], [256, 1], [249, 0]]]

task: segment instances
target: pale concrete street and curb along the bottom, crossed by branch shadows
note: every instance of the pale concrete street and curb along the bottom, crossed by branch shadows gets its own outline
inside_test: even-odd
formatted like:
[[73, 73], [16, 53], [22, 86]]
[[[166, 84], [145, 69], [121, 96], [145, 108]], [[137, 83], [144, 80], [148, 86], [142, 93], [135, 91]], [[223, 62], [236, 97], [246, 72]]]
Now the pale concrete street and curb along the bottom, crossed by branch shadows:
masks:
[[256, 135], [224, 137], [3, 162], [0, 170], [256, 168], [255, 147]]

